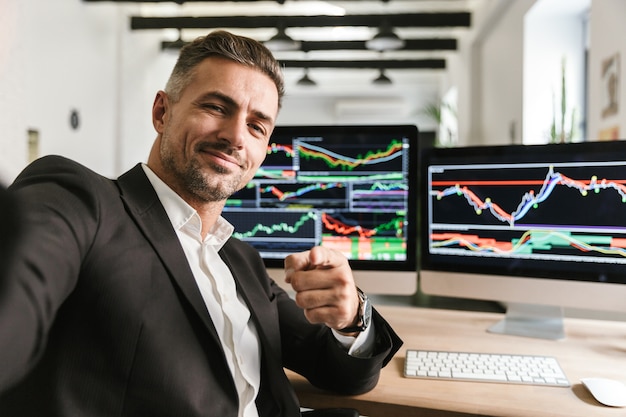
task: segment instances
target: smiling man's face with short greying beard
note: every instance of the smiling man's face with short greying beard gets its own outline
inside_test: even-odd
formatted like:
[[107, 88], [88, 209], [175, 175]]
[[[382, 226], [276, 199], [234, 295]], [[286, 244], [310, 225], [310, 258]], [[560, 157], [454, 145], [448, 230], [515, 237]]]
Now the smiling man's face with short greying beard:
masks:
[[153, 169], [190, 203], [226, 200], [265, 159], [277, 114], [278, 91], [267, 75], [227, 59], [205, 59], [178, 102], [157, 95], [160, 161]]

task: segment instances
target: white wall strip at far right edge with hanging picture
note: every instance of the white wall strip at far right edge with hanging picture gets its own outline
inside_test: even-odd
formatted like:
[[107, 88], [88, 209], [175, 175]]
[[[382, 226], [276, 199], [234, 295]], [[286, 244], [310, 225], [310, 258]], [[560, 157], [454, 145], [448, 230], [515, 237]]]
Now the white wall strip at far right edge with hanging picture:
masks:
[[[591, 5], [591, 50], [589, 53], [589, 112], [590, 139], [603, 136], [626, 139], [626, 2], [623, 0], [594, 0]], [[603, 65], [616, 58], [618, 86], [617, 108], [608, 110], [608, 76]]]

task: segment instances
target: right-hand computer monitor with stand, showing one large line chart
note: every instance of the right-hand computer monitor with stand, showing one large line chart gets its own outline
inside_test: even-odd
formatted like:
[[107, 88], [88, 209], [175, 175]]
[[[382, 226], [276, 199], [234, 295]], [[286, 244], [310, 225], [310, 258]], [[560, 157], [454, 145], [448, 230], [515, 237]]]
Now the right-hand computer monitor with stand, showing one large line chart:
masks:
[[564, 337], [564, 307], [626, 312], [626, 142], [421, 157], [420, 287], [500, 301], [490, 329]]

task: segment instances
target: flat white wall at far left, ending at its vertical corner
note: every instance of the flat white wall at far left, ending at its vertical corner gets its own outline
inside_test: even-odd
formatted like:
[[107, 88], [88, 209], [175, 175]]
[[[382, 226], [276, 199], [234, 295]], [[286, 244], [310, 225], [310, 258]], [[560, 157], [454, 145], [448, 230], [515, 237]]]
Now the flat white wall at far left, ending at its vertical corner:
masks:
[[29, 129], [39, 132], [41, 154], [113, 172], [117, 32], [110, 4], [0, 2], [0, 181], [26, 164]]

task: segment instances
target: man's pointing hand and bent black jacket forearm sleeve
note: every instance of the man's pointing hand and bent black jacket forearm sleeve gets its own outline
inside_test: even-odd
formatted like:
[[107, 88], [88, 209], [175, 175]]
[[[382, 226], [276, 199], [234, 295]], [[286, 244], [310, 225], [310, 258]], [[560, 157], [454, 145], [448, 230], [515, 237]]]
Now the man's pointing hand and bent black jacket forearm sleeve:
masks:
[[340, 346], [330, 329], [353, 326], [359, 309], [347, 259], [339, 252], [315, 247], [288, 256], [285, 274], [296, 291], [296, 304], [302, 309], [296, 311], [293, 302], [293, 308], [281, 303], [285, 366], [313, 385], [341, 394], [359, 394], [374, 388], [380, 370], [402, 346], [402, 340], [373, 309], [371, 354], [356, 357]]

